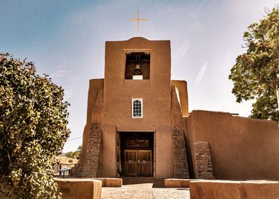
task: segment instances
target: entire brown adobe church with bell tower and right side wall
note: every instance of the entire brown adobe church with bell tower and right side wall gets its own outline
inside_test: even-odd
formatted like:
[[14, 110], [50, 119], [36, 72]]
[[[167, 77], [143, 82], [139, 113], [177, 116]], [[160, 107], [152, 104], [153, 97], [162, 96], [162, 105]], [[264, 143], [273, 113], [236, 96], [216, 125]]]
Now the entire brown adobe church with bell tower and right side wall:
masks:
[[227, 112], [189, 114], [186, 81], [171, 80], [170, 41], [107, 41], [73, 174], [279, 180], [279, 128]]

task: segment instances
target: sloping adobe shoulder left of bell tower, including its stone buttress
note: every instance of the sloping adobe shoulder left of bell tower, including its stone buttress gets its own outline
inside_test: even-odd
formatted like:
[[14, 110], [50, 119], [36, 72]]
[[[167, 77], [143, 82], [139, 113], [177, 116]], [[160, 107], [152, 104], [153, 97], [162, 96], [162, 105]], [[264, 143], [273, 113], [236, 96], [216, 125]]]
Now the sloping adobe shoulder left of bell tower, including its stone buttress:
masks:
[[[83, 130], [83, 149], [80, 153], [78, 164], [72, 169], [72, 173], [77, 176], [92, 176], [92, 168], [101, 168], [99, 158], [101, 158], [102, 130], [102, 101], [103, 101], [104, 79], [94, 79], [89, 82], [88, 109], [86, 124]], [[98, 143], [93, 144], [98, 140]], [[93, 154], [95, 151], [95, 154]], [[98, 151], [98, 154], [96, 153]], [[89, 153], [88, 153], [89, 152]], [[97, 162], [96, 162], [97, 161]], [[96, 171], [100, 173], [100, 171]], [[94, 176], [95, 177], [95, 176]]]

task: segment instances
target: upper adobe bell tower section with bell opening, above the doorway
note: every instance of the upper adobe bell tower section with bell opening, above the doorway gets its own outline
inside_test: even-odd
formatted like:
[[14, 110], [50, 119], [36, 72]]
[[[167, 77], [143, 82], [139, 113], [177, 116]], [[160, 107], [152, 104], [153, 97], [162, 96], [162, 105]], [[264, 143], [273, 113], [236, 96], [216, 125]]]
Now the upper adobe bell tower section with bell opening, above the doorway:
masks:
[[[102, 124], [140, 131], [171, 124], [170, 52], [170, 41], [106, 42]], [[131, 117], [136, 98], [142, 99], [141, 119]]]

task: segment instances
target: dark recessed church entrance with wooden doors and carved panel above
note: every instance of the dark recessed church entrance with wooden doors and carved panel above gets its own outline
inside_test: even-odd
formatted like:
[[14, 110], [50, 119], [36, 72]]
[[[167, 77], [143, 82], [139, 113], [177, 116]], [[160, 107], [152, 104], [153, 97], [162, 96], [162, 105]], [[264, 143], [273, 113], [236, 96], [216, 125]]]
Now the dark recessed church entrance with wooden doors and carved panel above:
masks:
[[153, 148], [153, 132], [120, 132], [120, 175], [152, 177]]

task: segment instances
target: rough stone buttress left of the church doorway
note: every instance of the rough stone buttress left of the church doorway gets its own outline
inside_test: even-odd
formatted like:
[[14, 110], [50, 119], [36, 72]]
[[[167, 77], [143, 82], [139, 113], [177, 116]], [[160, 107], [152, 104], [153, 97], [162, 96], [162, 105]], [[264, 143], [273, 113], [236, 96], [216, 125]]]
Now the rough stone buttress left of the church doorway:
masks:
[[91, 124], [85, 165], [77, 174], [90, 178], [98, 178], [102, 175], [102, 129], [98, 124]]

